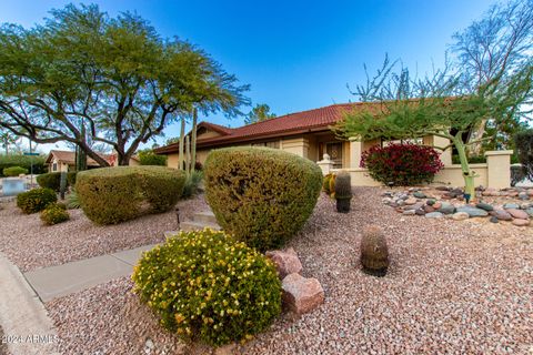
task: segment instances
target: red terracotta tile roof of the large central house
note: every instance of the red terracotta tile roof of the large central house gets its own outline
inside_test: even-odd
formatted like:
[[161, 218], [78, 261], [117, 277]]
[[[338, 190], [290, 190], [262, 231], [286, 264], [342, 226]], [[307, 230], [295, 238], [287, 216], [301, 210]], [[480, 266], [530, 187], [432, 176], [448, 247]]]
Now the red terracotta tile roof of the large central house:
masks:
[[[351, 110], [369, 109], [375, 104], [369, 103], [341, 103], [325, 108], [301, 111], [285, 114], [266, 121], [243, 125], [235, 129], [225, 128], [219, 124], [201, 122], [200, 125], [211, 128], [221, 133], [221, 136], [199, 139], [198, 148], [210, 148], [230, 144], [233, 142], [247, 142], [259, 139], [284, 136], [290, 134], [305, 133], [311, 131], [328, 130], [328, 128], [342, 120], [344, 113]], [[179, 143], [161, 146], [157, 153], [165, 154], [177, 152]]]

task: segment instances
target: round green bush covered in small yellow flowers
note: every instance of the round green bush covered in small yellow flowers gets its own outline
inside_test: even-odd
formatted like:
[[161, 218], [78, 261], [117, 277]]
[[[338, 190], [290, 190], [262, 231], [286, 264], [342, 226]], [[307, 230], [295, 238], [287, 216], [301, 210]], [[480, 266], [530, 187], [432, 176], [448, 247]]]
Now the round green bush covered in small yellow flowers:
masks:
[[223, 232], [181, 232], [144, 253], [134, 292], [185, 341], [223, 345], [250, 338], [281, 312], [272, 262]]

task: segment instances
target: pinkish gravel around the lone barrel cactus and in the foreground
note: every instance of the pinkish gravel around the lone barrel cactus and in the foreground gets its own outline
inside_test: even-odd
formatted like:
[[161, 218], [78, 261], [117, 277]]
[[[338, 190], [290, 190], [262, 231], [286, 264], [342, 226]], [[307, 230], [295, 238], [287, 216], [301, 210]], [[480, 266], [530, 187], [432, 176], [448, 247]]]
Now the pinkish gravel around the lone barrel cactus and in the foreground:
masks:
[[[243, 354], [531, 354], [533, 229], [402, 216], [380, 190], [354, 190], [352, 212], [321, 197], [289, 246], [325, 303], [281, 316]], [[381, 225], [392, 264], [363, 274], [360, 231]], [[185, 354], [119, 278], [47, 304], [64, 354]], [[145, 347], [145, 344], [150, 347]], [[153, 345], [153, 346], [152, 346]]]

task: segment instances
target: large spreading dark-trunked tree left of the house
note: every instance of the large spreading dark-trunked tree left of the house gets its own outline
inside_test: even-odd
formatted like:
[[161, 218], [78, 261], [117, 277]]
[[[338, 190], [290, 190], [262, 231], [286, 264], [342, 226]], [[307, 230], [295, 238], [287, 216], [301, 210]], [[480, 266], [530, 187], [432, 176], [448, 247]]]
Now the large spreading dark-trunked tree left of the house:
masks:
[[38, 143], [72, 143], [102, 166], [109, 162], [88, 141], [127, 165], [193, 108], [239, 114], [245, 90], [205, 52], [162, 39], [132, 13], [70, 4], [32, 29], [0, 29], [0, 126]]

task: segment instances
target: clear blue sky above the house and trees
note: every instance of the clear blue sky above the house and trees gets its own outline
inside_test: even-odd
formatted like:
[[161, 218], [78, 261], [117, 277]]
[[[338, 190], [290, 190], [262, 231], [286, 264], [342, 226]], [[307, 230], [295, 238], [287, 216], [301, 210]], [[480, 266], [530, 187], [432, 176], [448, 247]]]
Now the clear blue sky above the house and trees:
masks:
[[[71, 1], [1, 0], [0, 22], [32, 27]], [[78, 3], [79, 1], [74, 1]], [[452, 34], [480, 18], [487, 0], [181, 1], [105, 0], [111, 16], [137, 11], [163, 37], [200, 45], [242, 83], [253, 104], [278, 115], [354, 100], [346, 83], [364, 82], [384, 54], [419, 72], [442, 64]], [[249, 109], [245, 108], [248, 111]], [[211, 122], [238, 126], [221, 114]], [[178, 128], [167, 136], [178, 135]], [[161, 142], [164, 139], [160, 140]]]

